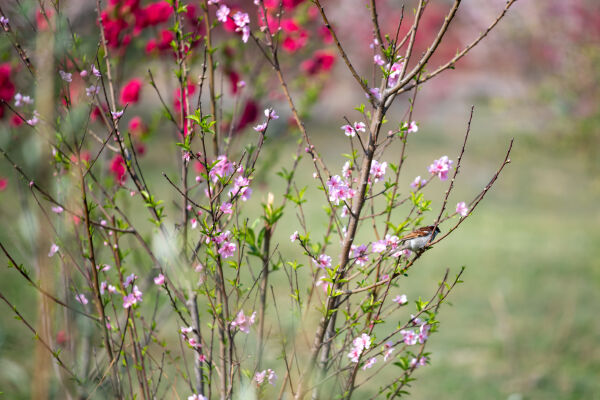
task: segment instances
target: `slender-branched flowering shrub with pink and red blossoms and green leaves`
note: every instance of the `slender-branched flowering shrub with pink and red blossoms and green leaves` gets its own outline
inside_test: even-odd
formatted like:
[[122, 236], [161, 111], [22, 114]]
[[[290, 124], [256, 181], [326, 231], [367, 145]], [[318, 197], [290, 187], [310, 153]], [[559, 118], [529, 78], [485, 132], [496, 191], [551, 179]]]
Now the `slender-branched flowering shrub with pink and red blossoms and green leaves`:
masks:
[[[462, 270], [454, 279], [447, 271], [428, 301], [398, 287], [472, 215], [510, 162], [509, 147], [489, 184], [449, 210], [472, 110], [458, 158], [442, 156], [426, 179], [413, 180], [403, 174], [407, 143], [422, 134], [413, 105], [420, 86], [452, 68], [489, 29], [431, 70], [460, 1], [420, 56], [414, 45], [429, 2], [387, 30], [372, 1], [373, 37], [363, 50], [374, 70], [368, 80], [319, 0], [98, 2], [86, 20], [96, 21], [89, 29], [97, 48], [57, 3], [40, 4], [35, 58], [23, 42], [33, 37], [27, 15], [2, 11], [2, 37], [12, 49], [0, 66], [0, 117], [10, 119], [7, 135], [44, 146], [51, 168], [43, 160], [36, 171], [17, 148], [2, 148], [21, 179], [3, 178], [0, 190], [23, 186], [39, 206], [46, 228], [35, 238], [43, 248], [37, 262], [45, 269], [34, 277], [12, 244], [2, 252], [44, 307], [64, 313], [35, 325], [0, 297], [58, 365], [65, 396], [406, 393], [414, 371], [429, 362], [437, 313]], [[57, 55], [43, 51], [55, 45]], [[328, 121], [348, 141], [339, 166], [321, 157], [305, 125], [335, 66], [349, 70], [366, 98], [348, 111], [355, 121], [346, 119], [342, 132]], [[395, 102], [406, 105], [401, 119], [388, 115]], [[272, 174], [265, 143], [281, 132], [299, 144], [277, 172], [284, 194], [276, 200], [255, 182]], [[159, 157], [145, 158], [148, 143]], [[399, 155], [386, 153], [392, 143]], [[305, 196], [308, 181], [319, 198]], [[444, 198], [426, 199], [424, 189], [444, 181]], [[260, 218], [252, 219], [246, 204], [261, 197]], [[325, 207], [322, 238], [311, 232], [308, 202]], [[392, 218], [396, 210], [406, 213]], [[286, 213], [297, 214], [295, 226], [281, 226]], [[436, 237], [440, 227], [446, 232]], [[359, 232], [370, 239], [359, 242]], [[300, 258], [280, 248], [288, 237]], [[93, 357], [80, 357], [84, 344]], [[376, 379], [392, 366], [396, 378]]]

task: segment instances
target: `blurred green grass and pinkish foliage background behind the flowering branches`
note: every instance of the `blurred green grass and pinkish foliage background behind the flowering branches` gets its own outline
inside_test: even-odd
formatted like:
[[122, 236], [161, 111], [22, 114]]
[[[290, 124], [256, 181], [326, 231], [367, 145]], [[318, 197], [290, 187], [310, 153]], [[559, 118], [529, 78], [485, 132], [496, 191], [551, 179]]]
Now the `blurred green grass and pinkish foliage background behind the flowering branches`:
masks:
[[[34, 12], [34, 2], [22, 3], [31, 8], [27, 12]], [[74, 15], [85, 11], [72, 3]], [[360, 60], [370, 32], [357, 25], [366, 21], [360, 2], [354, 3], [332, 11], [332, 20], [351, 57]], [[383, 24], [391, 26], [399, 16], [397, 4], [380, 3]], [[464, 1], [450, 40], [434, 64], [468, 43], [493, 20], [503, 3]], [[432, 32], [447, 5], [447, 1], [431, 2], [425, 17]], [[411, 15], [408, 10], [406, 15]], [[421, 46], [428, 43], [426, 34], [419, 40]], [[12, 60], [14, 54], [2, 36], [0, 44], [3, 60]], [[372, 68], [370, 56], [362, 59], [363, 71]], [[600, 398], [599, 65], [597, 1], [519, 1], [456, 71], [435, 78], [419, 92], [414, 119], [420, 130], [411, 137], [401, 182], [406, 190], [416, 175], [426, 175], [433, 159], [444, 154], [456, 157], [471, 104], [475, 105], [471, 141], [450, 204], [479, 192], [499, 165], [510, 138], [515, 138], [515, 146], [511, 165], [474, 217], [427, 253], [412, 271], [411, 282], [419, 283], [410, 287], [400, 283], [399, 290], [410, 299], [426, 297], [446, 268], [455, 273], [460, 266], [467, 267], [465, 283], [450, 298], [453, 306], [446, 306], [440, 314], [440, 332], [432, 336], [428, 348], [430, 365], [416, 373], [411, 398]], [[334, 68], [327, 81], [319, 82], [324, 92], [309, 122], [315, 145], [332, 169], [341, 168], [340, 149], [349, 151], [340, 137], [342, 116], [352, 119], [349, 110], [364, 102], [343, 65]], [[150, 88], [144, 90], [150, 97]], [[154, 101], [144, 100], [146, 104]], [[398, 106], [398, 112], [403, 113], [405, 107], [406, 102]], [[279, 110], [289, 116], [283, 105]], [[150, 134], [143, 139], [142, 167], [148, 175], [159, 177], [165, 126], [151, 115], [145, 117]], [[11, 127], [8, 118], [0, 127], [0, 142], [6, 146], [11, 140], [23, 140], [27, 159], [33, 145], [28, 144], [30, 139], [15, 136], [18, 128]], [[256, 181], [251, 206], [256, 216], [266, 190], [281, 195], [283, 188], [278, 185], [282, 181], [275, 172], [288, 167], [295, 152], [287, 124], [276, 128], [267, 143], [270, 156], [263, 159], [263, 172]], [[253, 132], [246, 129], [242, 134]], [[383, 157], [394, 162], [396, 158], [396, 148]], [[300, 171], [309, 168], [304, 159]], [[26, 211], [35, 205], [4, 161], [0, 177], [0, 239], [16, 246], [17, 254], [26, 258], [35, 245], [28, 242], [35, 227]], [[301, 183], [310, 184], [311, 179], [306, 174]], [[438, 185], [426, 191], [434, 200], [433, 213], [439, 210], [443, 190]], [[318, 196], [316, 190], [308, 194]], [[324, 230], [318, 222], [322, 210], [311, 204], [307, 215], [318, 236]], [[132, 207], [130, 212], [137, 211]], [[295, 216], [289, 213], [285, 218], [279, 242], [285, 251], [297, 252], [287, 241], [295, 230]], [[34, 291], [14, 270], [0, 269], [0, 289], [34, 318]], [[7, 399], [28, 398], [34, 339], [5, 305], [0, 310], [0, 392]], [[394, 376], [398, 371], [389, 368], [383, 373]]]

